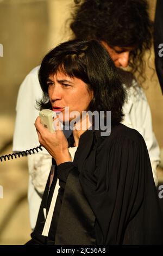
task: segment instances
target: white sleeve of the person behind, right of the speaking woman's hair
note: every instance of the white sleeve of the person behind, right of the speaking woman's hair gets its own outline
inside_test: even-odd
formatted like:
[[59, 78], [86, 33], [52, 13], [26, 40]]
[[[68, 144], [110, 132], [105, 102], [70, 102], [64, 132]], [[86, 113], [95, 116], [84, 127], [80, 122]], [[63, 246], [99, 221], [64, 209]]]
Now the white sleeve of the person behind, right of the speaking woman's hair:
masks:
[[146, 95], [135, 80], [133, 80], [133, 86], [130, 88], [128, 102], [124, 106], [124, 114], [123, 124], [139, 131], [145, 139], [151, 160], [153, 178], [155, 185], [158, 185], [156, 167], [160, 162], [160, 149], [153, 132], [151, 109]]

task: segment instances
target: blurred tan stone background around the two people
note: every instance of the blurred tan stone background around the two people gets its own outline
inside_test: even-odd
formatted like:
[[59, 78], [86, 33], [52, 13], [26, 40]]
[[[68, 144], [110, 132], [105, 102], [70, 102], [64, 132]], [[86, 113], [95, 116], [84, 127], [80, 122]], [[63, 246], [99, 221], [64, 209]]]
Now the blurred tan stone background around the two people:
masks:
[[[154, 19], [156, 0], [148, 1]], [[70, 38], [65, 21], [73, 4], [73, 0], [0, 0], [0, 155], [12, 151], [18, 88], [47, 51]], [[154, 68], [153, 49], [149, 64]], [[163, 148], [163, 97], [156, 73], [151, 78], [153, 70], [147, 67], [146, 72], [144, 88], [153, 129]], [[161, 167], [158, 176], [162, 182]], [[23, 245], [30, 239], [27, 187], [26, 157], [0, 162], [0, 245]]]

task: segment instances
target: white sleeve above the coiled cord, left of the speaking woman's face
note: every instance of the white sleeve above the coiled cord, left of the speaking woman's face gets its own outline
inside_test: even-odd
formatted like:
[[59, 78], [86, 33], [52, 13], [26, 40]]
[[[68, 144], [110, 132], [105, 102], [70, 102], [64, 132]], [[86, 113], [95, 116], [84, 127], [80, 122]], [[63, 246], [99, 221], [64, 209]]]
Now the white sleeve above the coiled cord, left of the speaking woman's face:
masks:
[[[34, 126], [39, 115], [36, 100], [42, 97], [38, 79], [39, 67], [33, 69], [22, 82], [16, 103], [16, 120], [13, 137], [13, 151], [23, 151], [40, 145]], [[45, 149], [43, 153], [48, 154]]]

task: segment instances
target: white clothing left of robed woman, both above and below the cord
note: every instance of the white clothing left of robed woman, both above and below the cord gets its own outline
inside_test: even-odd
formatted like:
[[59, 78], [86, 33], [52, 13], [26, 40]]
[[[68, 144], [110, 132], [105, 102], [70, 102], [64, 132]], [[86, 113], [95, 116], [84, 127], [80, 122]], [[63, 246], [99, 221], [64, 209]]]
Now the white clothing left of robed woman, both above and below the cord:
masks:
[[[13, 137], [13, 151], [29, 150], [40, 145], [34, 126], [39, 115], [36, 100], [42, 97], [38, 79], [39, 67], [33, 69], [22, 82], [18, 91], [16, 103], [16, 120]], [[37, 214], [41, 203], [41, 194], [45, 190], [46, 181], [52, 166], [52, 156], [42, 147], [41, 153], [28, 155], [29, 186], [28, 202], [30, 224], [35, 227]]]

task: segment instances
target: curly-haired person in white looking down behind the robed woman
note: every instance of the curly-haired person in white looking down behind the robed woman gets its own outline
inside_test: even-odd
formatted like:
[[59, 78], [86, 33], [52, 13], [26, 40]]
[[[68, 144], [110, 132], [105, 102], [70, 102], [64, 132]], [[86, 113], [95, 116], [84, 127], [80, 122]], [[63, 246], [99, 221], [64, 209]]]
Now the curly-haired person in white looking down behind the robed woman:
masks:
[[[153, 132], [151, 111], [146, 96], [133, 76], [137, 72], [140, 80], [144, 80], [146, 63], [143, 56], [152, 44], [152, 22], [148, 16], [147, 1], [84, 0], [81, 4], [75, 5], [73, 11], [70, 27], [74, 38], [96, 39], [102, 42], [117, 68], [124, 68], [127, 65], [131, 68], [131, 72], [118, 69], [128, 94], [123, 105], [123, 124], [139, 131], [145, 139], [152, 164], [153, 178], [157, 185], [156, 167], [160, 160], [159, 146]], [[35, 118], [39, 115], [35, 102], [42, 96], [38, 80], [39, 68], [33, 69], [28, 74], [18, 94], [13, 139], [15, 151], [34, 148], [39, 143], [33, 125]], [[22, 124], [28, 125], [22, 126]], [[32, 229], [35, 227], [41, 196], [51, 164], [51, 156], [46, 150], [28, 156], [28, 200]]]

